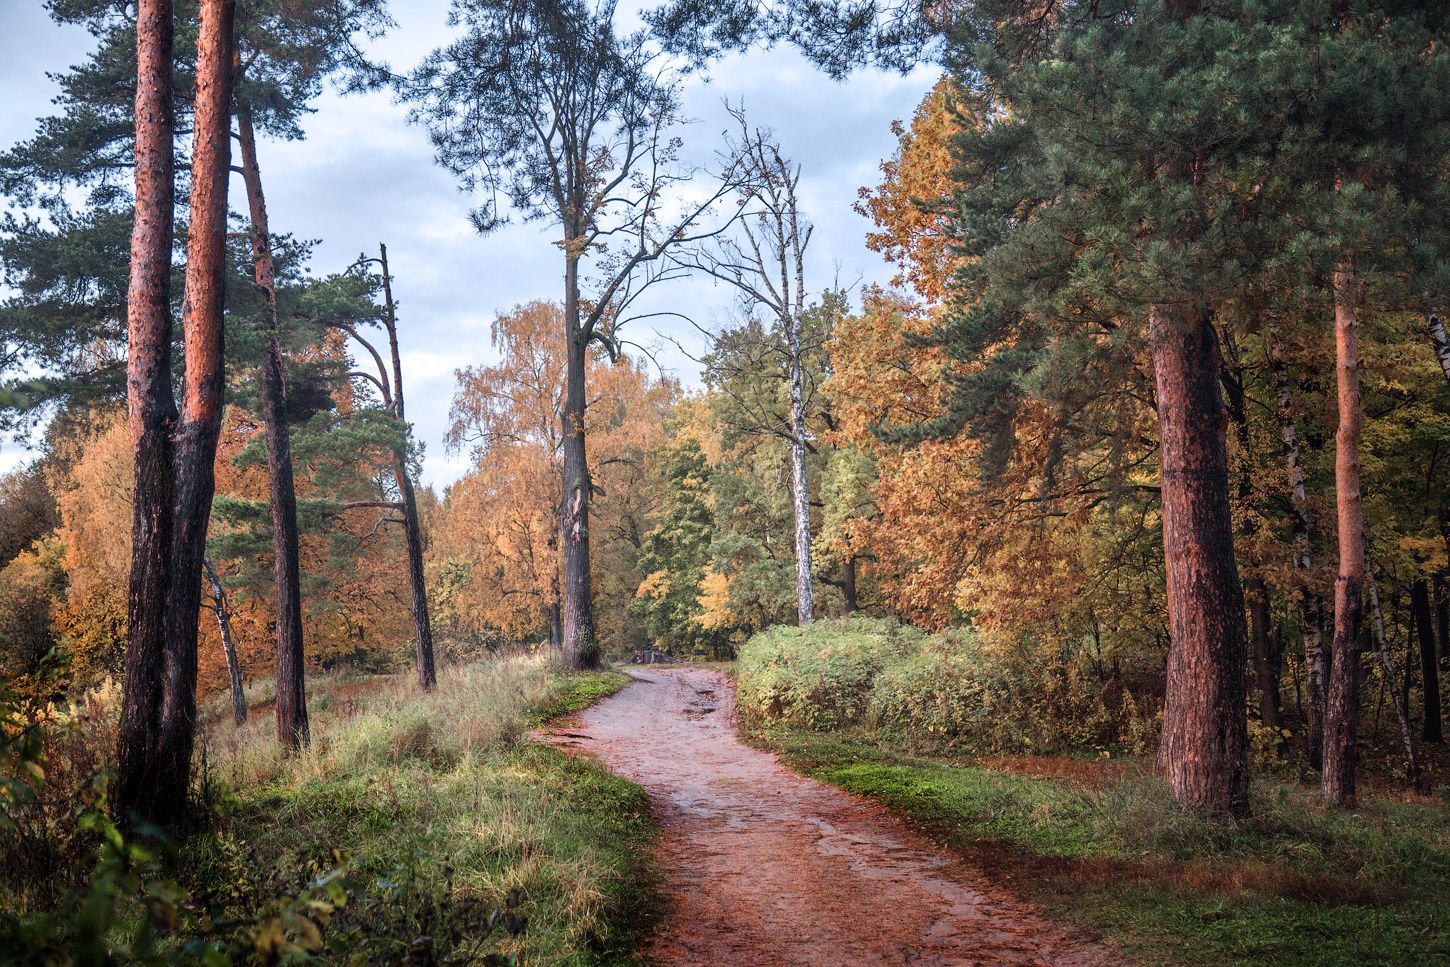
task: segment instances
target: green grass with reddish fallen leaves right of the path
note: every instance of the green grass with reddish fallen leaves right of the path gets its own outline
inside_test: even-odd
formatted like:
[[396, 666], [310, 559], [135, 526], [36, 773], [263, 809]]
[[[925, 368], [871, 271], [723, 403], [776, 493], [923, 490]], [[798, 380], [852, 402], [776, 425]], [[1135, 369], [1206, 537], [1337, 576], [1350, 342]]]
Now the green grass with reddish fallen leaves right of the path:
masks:
[[1450, 961], [1450, 813], [1327, 812], [1262, 781], [1235, 825], [1189, 816], [1144, 770], [1093, 781], [908, 755], [870, 735], [757, 729], [799, 771], [874, 799], [1143, 963]]

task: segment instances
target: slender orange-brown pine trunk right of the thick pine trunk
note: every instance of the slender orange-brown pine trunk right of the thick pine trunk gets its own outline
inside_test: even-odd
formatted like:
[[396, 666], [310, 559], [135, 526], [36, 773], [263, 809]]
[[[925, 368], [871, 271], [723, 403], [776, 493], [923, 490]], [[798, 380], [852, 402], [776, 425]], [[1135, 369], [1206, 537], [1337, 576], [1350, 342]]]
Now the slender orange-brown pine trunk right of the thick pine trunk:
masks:
[[1359, 284], [1354, 270], [1334, 273], [1334, 354], [1338, 415], [1334, 500], [1338, 510], [1340, 573], [1334, 581], [1334, 667], [1324, 719], [1324, 797], [1354, 805], [1356, 723], [1360, 703], [1360, 634], [1364, 621], [1364, 507], [1360, 494], [1363, 409], [1359, 375]]

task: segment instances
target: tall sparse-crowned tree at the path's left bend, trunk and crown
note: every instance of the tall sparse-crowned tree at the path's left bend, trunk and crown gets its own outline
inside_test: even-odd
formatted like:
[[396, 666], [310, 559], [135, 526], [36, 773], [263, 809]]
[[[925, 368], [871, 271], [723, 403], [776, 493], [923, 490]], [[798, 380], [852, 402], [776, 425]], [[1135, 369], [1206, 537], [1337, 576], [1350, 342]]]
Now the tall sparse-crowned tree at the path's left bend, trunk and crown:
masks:
[[[593, 484], [584, 439], [584, 362], [592, 344], [613, 358], [621, 326], [650, 286], [677, 274], [666, 254], [700, 228], [734, 186], [677, 204], [693, 174], [680, 164], [677, 91], [644, 32], [615, 32], [602, 0], [454, 0], [464, 36], [434, 51], [400, 84], [428, 128], [438, 162], [483, 196], [480, 232], [508, 220], [561, 229], [567, 365], [560, 544], [563, 660], [596, 667], [589, 565]], [[593, 267], [592, 291], [581, 273]]]

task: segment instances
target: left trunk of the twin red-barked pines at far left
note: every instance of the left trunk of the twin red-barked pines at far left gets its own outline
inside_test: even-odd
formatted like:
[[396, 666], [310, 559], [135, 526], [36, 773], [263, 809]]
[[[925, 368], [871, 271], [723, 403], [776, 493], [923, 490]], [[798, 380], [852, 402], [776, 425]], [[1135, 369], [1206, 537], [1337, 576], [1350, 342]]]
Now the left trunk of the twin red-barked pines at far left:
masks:
[[136, 4], [136, 209], [126, 297], [126, 416], [135, 457], [125, 693], [110, 797], [116, 816], [168, 823], [181, 816], [187, 776], [160, 750], [171, 563], [171, 155], [173, 12], [170, 0]]

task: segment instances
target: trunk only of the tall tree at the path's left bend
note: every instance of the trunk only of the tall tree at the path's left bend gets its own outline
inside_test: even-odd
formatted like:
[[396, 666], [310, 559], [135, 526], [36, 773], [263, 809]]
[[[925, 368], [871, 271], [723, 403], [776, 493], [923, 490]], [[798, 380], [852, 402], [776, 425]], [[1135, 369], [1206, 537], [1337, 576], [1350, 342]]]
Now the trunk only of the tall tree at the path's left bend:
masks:
[[564, 371], [564, 487], [560, 505], [560, 544], [564, 568], [564, 621], [561, 660], [571, 668], [597, 668], [599, 639], [594, 634], [594, 602], [589, 573], [589, 500], [592, 481], [584, 448], [584, 374], [589, 346], [580, 323], [579, 260], [566, 257], [564, 325], [567, 365]]

